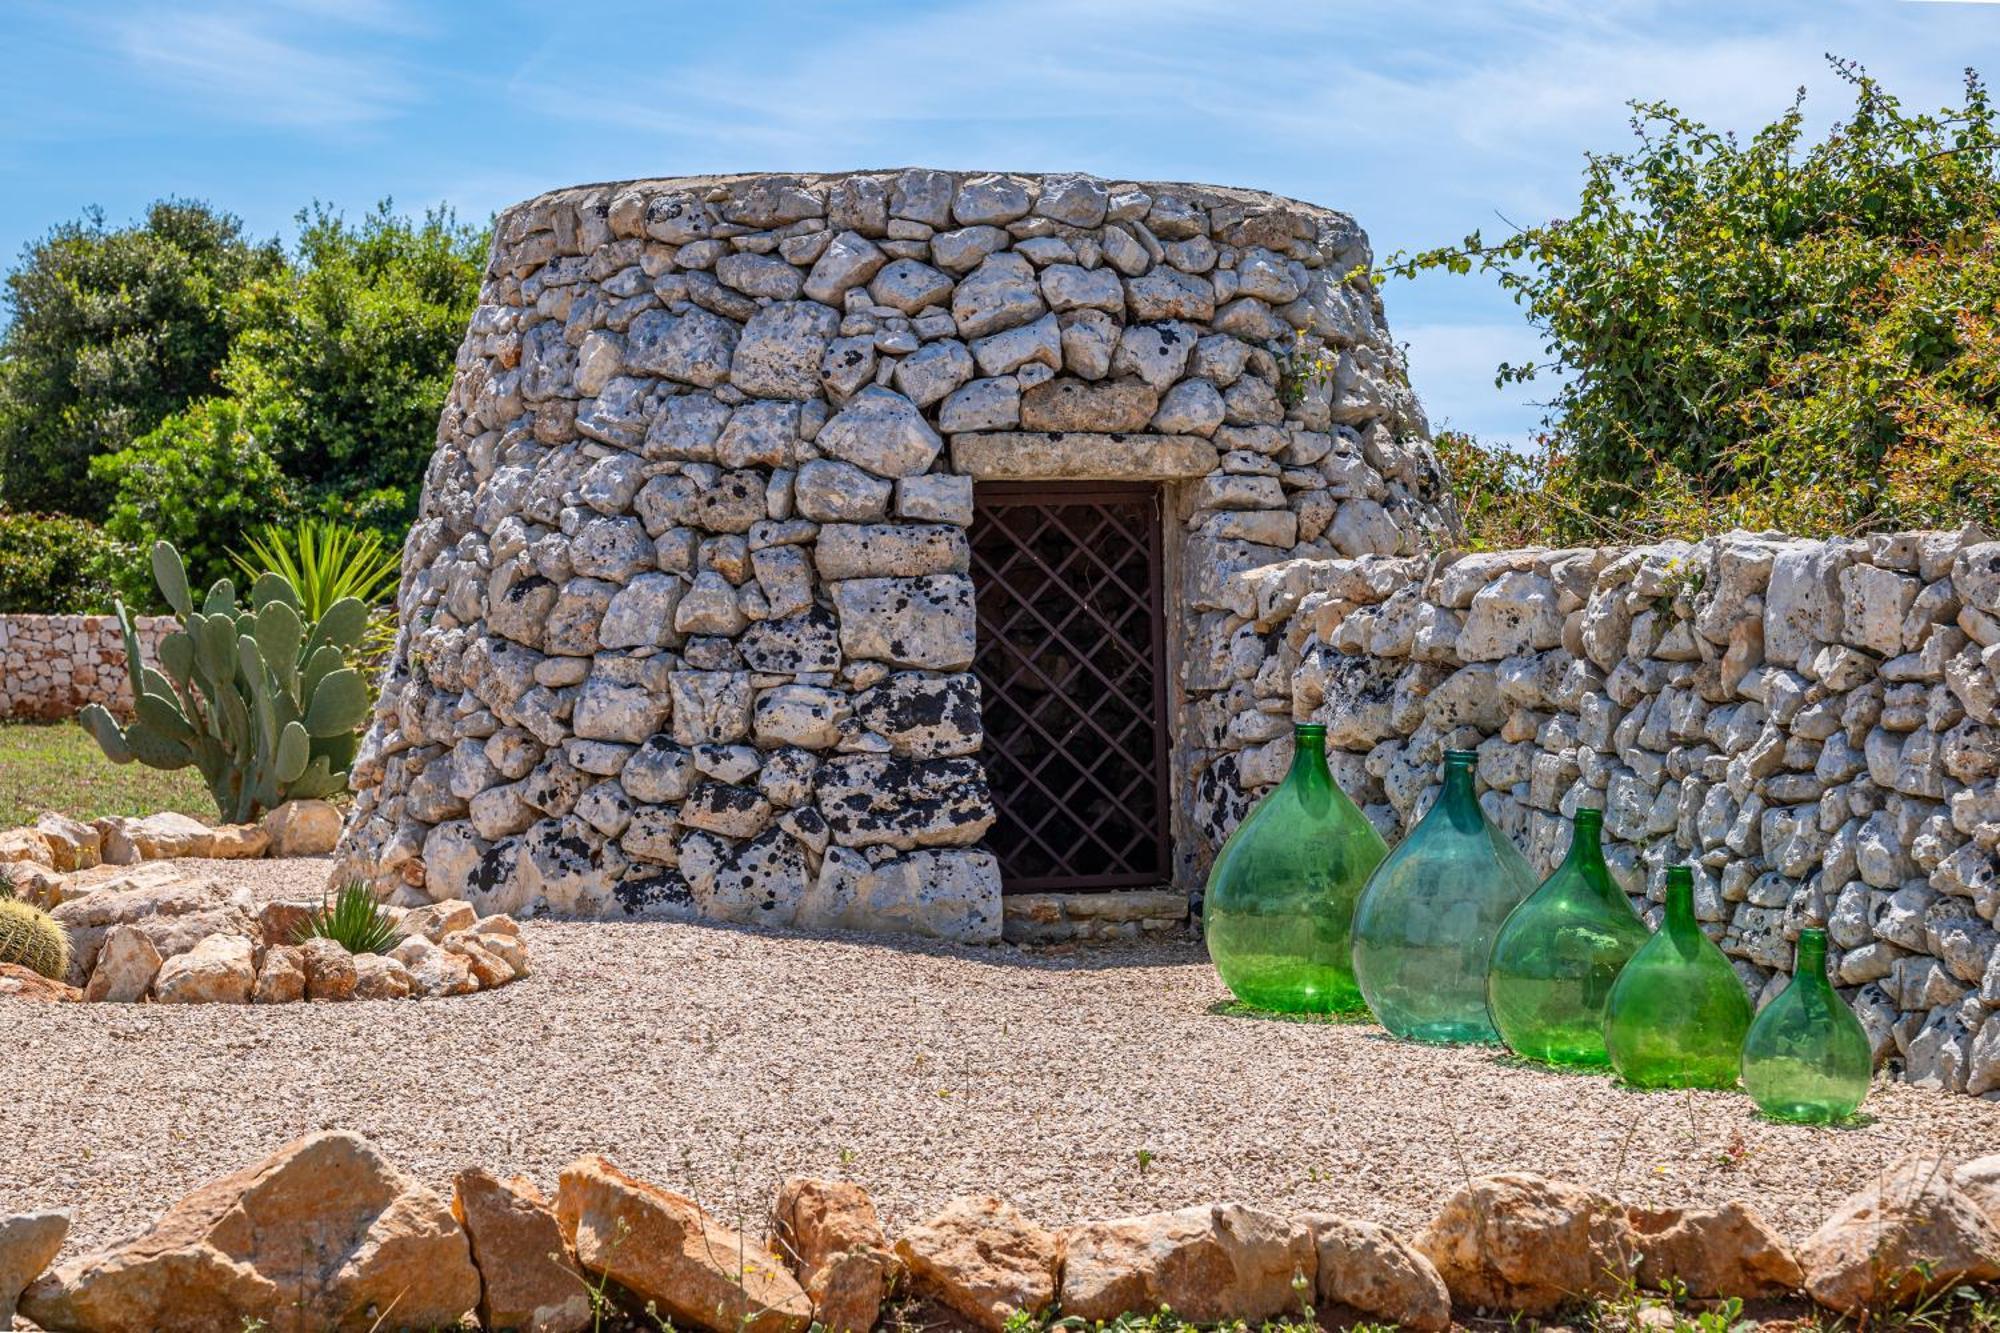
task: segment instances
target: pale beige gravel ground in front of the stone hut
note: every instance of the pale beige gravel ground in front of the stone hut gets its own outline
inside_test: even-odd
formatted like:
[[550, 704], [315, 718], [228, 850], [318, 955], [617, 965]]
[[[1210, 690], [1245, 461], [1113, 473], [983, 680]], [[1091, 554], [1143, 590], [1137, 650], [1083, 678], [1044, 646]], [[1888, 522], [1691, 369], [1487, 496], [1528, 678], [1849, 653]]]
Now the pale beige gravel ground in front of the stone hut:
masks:
[[[194, 863], [316, 897], [314, 863]], [[2000, 1105], [1880, 1083], [1872, 1123], [1764, 1123], [1720, 1093], [1616, 1089], [1366, 1025], [1218, 1013], [1192, 941], [1018, 951], [688, 925], [526, 923], [536, 975], [446, 1001], [0, 1001], [0, 1213], [74, 1207], [70, 1251], [146, 1225], [302, 1133], [358, 1129], [422, 1179], [554, 1187], [602, 1151], [754, 1221], [846, 1175], [894, 1233], [1002, 1193], [1044, 1223], [1240, 1199], [1426, 1221], [1466, 1173], [1632, 1201], [1756, 1199], [1804, 1235], [1894, 1157], [2000, 1147]]]

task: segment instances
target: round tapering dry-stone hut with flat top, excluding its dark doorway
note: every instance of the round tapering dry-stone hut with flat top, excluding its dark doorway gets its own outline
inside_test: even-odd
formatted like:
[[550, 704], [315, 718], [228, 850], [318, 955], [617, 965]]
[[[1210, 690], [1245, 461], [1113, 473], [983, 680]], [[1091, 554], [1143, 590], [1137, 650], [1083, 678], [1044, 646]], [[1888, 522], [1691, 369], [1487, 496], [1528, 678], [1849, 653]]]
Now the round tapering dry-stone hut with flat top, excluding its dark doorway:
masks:
[[496, 220], [456, 366], [336, 867], [406, 901], [1000, 939], [972, 546], [1022, 482], [1150, 496], [1192, 889], [1252, 785], [1220, 729], [1290, 727], [1234, 574], [1454, 534], [1366, 236], [1252, 190], [558, 190]]

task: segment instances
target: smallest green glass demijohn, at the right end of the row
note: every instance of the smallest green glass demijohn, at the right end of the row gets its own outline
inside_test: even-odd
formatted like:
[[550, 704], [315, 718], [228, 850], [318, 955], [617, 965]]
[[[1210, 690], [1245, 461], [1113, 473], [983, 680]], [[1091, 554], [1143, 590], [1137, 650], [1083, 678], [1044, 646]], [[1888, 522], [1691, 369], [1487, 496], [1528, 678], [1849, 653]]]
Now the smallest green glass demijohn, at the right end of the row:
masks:
[[1744, 1091], [1764, 1115], [1832, 1125], [1868, 1095], [1868, 1033], [1826, 981], [1826, 931], [1798, 933], [1792, 981], [1744, 1037]]

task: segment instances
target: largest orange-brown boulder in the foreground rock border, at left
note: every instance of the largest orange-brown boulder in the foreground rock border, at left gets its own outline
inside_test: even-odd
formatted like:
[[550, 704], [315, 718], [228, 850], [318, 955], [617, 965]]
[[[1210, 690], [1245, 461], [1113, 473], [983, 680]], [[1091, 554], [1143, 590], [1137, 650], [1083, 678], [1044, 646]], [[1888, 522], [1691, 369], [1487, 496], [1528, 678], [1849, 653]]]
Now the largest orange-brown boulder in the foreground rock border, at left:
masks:
[[368, 1333], [450, 1327], [478, 1299], [444, 1201], [360, 1135], [322, 1133], [60, 1265], [22, 1313], [52, 1333]]

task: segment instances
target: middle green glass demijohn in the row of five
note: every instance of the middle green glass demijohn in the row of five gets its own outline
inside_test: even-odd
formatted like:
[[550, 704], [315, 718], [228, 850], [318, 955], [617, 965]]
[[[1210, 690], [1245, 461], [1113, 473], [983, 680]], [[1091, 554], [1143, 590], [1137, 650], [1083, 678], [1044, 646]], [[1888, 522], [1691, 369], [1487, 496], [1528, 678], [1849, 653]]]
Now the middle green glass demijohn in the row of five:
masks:
[[1514, 1055], [1608, 1065], [1604, 1003], [1646, 923], [1604, 865], [1604, 811], [1580, 809], [1570, 855], [1508, 915], [1486, 965], [1486, 1009]]

